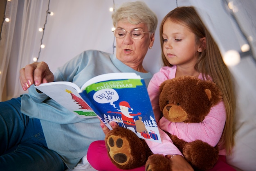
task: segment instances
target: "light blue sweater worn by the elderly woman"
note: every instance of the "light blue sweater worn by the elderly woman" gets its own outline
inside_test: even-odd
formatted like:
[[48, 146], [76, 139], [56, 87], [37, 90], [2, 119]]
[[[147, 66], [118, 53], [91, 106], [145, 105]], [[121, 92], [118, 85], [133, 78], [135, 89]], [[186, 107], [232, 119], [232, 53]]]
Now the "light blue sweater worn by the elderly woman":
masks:
[[[81, 88], [92, 77], [110, 72], [135, 72], [147, 85], [152, 77], [150, 73], [126, 66], [113, 54], [87, 50], [58, 68], [54, 81], [70, 81]], [[70, 169], [86, 155], [91, 142], [105, 138], [98, 118], [79, 118], [45, 94], [38, 93], [34, 86], [29, 88], [29, 94], [21, 97], [21, 112], [40, 119], [48, 148], [56, 151]]]

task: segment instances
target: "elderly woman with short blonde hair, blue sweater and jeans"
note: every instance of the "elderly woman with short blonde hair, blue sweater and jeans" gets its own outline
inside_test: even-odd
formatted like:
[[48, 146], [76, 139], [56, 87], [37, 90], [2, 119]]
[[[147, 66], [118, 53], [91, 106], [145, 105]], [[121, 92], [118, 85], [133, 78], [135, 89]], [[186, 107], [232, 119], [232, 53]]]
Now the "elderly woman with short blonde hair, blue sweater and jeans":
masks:
[[[72, 169], [88, 147], [105, 135], [98, 118], [79, 118], [36, 90], [35, 85], [70, 81], [82, 86], [110, 72], [135, 72], [148, 83], [152, 75], [143, 59], [154, 43], [157, 16], [144, 2], [130, 2], [114, 13], [116, 55], [87, 50], [53, 74], [39, 62], [20, 70], [20, 83], [29, 94], [0, 102], [0, 168], [2, 170]], [[118, 11], [118, 10], [117, 10]]]

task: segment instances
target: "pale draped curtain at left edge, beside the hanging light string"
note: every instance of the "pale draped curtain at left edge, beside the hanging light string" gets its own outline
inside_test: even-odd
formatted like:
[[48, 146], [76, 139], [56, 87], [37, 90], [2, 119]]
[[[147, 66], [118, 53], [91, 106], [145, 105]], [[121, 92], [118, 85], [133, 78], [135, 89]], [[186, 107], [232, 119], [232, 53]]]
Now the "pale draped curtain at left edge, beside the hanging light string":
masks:
[[10, 22], [3, 23], [1, 34], [0, 101], [24, 93], [19, 82], [19, 71], [31, 63], [32, 54], [38, 51], [40, 37], [36, 33], [41, 18], [46, 15], [45, 4], [47, 1], [7, 1], [5, 17], [10, 18]]

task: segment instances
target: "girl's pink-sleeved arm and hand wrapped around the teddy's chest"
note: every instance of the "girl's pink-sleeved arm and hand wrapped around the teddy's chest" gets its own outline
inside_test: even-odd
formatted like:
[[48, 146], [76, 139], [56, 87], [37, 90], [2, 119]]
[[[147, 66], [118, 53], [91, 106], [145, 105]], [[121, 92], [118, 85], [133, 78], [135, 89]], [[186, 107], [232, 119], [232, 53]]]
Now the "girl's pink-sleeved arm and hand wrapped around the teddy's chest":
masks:
[[221, 101], [211, 108], [211, 111], [202, 123], [173, 123], [163, 117], [158, 125], [164, 131], [176, 135], [187, 142], [199, 139], [211, 146], [215, 146], [220, 140], [225, 121], [225, 105]]

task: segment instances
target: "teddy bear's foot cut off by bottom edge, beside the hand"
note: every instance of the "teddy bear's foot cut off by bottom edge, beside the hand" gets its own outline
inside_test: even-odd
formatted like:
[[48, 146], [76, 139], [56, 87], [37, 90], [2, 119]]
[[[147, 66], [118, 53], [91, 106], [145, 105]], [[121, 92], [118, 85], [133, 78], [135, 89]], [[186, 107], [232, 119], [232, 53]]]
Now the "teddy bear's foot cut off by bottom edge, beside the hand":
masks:
[[171, 160], [161, 154], [153, 154], [148, 157], [145, 165], [146, 171], [171, 171]]

